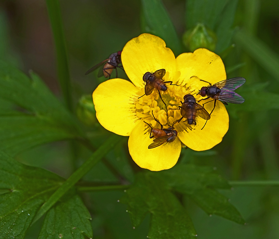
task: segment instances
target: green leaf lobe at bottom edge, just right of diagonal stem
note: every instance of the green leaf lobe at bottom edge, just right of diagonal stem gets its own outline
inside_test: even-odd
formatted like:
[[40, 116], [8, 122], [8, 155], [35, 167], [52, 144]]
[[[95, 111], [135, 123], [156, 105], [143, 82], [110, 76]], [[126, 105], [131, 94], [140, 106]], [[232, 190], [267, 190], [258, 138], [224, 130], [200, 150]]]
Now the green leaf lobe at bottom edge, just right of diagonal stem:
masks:
[[92, 238], [91, 216], [77, 195], [68, 194], [45, 215], [39, 239]]

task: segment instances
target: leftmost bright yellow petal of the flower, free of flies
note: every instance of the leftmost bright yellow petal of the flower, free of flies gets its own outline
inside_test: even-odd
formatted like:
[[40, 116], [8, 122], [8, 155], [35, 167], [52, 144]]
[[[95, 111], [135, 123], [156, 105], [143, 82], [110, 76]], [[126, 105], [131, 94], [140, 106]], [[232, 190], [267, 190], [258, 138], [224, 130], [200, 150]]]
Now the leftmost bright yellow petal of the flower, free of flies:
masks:
[[100, 124], [115, 134], [129, 136], [138, 119], [134, 98], [138, 89], [124, 79], [101, 83], [93, 92], [96, 117]]

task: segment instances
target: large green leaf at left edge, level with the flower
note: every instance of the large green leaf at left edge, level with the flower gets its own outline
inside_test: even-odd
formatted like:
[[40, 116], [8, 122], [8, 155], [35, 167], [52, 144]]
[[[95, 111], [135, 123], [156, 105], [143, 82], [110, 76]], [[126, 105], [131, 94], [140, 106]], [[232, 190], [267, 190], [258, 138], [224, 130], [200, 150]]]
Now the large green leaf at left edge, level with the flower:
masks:
[[[15, 155], [33, 146], [80, 137], [75, 119], [38, 75], [31, 79], [0, 62], [0, 149]], [[13, 106], [13, 107], [11, 107]]]

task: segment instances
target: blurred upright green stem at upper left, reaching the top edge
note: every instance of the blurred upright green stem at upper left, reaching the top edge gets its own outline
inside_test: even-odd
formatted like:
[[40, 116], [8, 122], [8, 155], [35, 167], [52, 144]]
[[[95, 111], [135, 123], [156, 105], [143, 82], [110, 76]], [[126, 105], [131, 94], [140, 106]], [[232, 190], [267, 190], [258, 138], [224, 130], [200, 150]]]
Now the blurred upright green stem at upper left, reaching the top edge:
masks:
[[60, 4], [58, 0], [46, 0], [46, 5], [56, 48], [58, 79], [62, 88], [65, 104], [70, 111], [73, 111], [71, 81]]

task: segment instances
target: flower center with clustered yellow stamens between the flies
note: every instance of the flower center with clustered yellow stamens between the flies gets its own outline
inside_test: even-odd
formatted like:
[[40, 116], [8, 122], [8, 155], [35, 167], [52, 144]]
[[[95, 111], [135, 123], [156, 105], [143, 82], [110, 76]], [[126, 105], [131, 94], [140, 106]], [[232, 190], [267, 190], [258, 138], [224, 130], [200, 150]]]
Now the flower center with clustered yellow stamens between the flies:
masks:
[[[174, 84], [174, 83], [173, 83]], [[158, 122], [155, 121], [154, 117], [160, 121], [164, 128], [169, 128], [173, 125], [173, 122], [179, 120], [182, 116], [180, 114], [179, 106], [181, 106], [181, 101], [183, 102], [183, 97], [186, 94], [194, 94], [196, 97], [198, 91], [192, 89], [191, 87], [185, 86], [176, 86], [167, 84], [167, 91], [160, 91], [161, 97], [164, 103], [162, 102], [158, 91], [156, 89], [150, 95], [144, 95], [144, 88], [141, 91], [138, 91], [138, 96], [141, 98], [135, 100], [136, 114], [138, 118], [144, 120], [148, 124], [152, 125], [154, 128], [161, 128]], [[153, 111], [153, 115], [152, 115]], [[167, 115], [168, 114], [168, 115]], [[186, 120], [186, 122], [184, 122]], [[187, 129], [192, 129], [194, 125], [188, 125], [187, 119], [182, 119], [179, 123], [176, 123], [175, 128], [177, 131], [183, 131]]]

